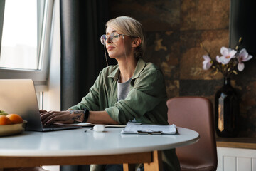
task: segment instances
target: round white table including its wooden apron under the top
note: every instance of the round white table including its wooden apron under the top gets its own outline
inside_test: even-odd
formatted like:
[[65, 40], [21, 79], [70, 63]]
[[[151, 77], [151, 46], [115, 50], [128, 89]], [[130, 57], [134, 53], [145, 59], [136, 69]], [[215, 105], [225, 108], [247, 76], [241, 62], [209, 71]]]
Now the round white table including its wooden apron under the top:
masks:
[[[105, 132], [100, 133], [87, 127], [45, 133], [24, 131], [20, 135], [1, 137], [0, 168], [10, 167], [11, 162], [8, 164], [9, 160], [16, 160], [17, 162], [16, 165], [12, 163], [12, 167], [20, 167], [21, 165], [81, 165], [90, 164], [90, 162], [96, 163], [96, 160], [99, 160], [98, 163], [112, 162], [112, 160], [115, 160], [113, 163], [129, 163], [132, 160], [134, 162], [139, 160], [132, 157], [133, 154], [136, 154], [137, 157], [139, 154], [146, 156], [153, 151], [190, 145], [199, 139], [196, 131], [186, 128], [177, 128], [178, 133], [176, 135], [122, 134], [122, 129], [105, 128]], [[85, 130], [87, 131], [85, 132]], [[106, 155], [109, 158], [108, 161], [97, 158], [100, 156], [106, 158]], [[127, 156], [134, 159], [124, 161]], [[79, 160], [82, 157], [87, 158], [86, 160]], [[89, 157], [93, 159], [89, 160]], [[35, 161], [31, 164], [27, 160]], [[152, 161], [152, 159], [150, 160]]]

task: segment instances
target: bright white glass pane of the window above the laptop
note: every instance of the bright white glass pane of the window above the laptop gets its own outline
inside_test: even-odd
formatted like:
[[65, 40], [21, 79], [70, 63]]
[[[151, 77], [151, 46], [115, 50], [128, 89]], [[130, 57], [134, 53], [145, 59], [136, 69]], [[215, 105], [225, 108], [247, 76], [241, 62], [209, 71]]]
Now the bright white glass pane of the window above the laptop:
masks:
[[[28, 9], [21, 6], [28, 6]], [[8, 0], [4, 6], [0, 67], [38, 69], [37, 3]], [[18, 14], [18, 15], [14, 15]], [[18, 28], [18, 29], [17, 29]]]

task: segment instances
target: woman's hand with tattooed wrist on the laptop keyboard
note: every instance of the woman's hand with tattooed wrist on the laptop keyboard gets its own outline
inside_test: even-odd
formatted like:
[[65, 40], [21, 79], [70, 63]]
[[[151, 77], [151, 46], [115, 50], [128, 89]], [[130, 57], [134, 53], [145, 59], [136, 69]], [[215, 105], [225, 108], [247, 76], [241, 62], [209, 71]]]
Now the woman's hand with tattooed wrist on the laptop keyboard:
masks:
[[53, 123], [74, 123], [84, 120], [83, 110], [66, 110], [66, 111], [46, 111], [40, 110], [41, 121], [43, 125]]

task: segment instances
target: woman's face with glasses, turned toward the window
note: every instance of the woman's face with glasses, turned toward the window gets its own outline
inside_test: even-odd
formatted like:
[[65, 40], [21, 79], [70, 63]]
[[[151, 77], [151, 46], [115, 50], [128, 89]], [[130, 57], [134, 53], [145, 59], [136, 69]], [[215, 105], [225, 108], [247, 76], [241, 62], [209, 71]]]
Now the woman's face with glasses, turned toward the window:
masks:
[[[110, 35], [114, 33], [115, 38], [111, 40]], [[117, 34], [121, 34], [117, 36]], [[106, 36], [108, 36], [106, 41], [106, 48], [110, 58], [125, 58], [125, 55], [129, 56], [132, 53], [132, 38], [129, 36], [122, 36], [114, 28], [108, 26], [106, 29]], [[125, 50], [124, 50], [125, 46]]]

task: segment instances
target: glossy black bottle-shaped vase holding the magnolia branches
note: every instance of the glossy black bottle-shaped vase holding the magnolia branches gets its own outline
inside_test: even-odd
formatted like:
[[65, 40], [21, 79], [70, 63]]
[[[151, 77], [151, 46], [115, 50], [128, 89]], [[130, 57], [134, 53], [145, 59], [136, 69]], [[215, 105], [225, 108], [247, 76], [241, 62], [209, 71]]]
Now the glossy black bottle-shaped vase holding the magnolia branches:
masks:
[[215, 94], [215, 129], [219, 137], [236, 137], [239, 114], [239, 99], [230, 78], [224, 78], [224, 85]]

